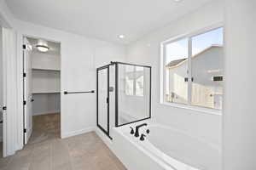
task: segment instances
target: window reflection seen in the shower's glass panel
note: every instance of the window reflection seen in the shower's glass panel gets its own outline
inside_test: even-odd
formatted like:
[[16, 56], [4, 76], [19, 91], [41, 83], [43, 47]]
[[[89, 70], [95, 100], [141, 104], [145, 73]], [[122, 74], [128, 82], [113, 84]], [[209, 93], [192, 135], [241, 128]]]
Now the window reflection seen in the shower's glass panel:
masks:
[[125, 66], [125, 94], [143, 96], [144, 68], [141, 66]]

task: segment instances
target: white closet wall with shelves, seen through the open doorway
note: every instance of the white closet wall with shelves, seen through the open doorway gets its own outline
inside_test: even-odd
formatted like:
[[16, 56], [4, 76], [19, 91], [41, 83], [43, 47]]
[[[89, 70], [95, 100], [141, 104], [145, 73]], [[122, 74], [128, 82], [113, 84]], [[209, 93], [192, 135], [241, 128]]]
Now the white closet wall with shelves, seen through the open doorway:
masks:
[[[30, 38], [35, 44], [37, 41]], [[32, 50], [32, 104], [33, 116], [61, 111], [61, 54], [60, 44], [49, 43], [49, 51]]]

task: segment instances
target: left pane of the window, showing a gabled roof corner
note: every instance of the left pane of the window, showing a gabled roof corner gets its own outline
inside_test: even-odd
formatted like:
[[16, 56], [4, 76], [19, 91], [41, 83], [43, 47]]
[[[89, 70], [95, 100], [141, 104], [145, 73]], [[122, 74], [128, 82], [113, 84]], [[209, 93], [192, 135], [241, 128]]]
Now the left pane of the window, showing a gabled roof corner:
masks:
[[188, 103], [188, 39], [166, 45], [166, 102]]

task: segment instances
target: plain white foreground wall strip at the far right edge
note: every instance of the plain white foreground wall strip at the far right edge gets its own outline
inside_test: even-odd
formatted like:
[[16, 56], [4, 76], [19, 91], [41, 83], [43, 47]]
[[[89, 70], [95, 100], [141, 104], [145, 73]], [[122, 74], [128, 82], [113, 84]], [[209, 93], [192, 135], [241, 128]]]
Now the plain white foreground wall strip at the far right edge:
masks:
[[225, 1], [224, 170], [256, 169], [256, 1]]

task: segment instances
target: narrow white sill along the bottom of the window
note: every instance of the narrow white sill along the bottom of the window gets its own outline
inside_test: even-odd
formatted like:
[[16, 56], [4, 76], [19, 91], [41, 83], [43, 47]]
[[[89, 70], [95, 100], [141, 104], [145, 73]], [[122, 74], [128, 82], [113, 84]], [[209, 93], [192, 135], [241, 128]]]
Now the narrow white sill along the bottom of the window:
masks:
[[160, 105], [168, 105], [168, 106], [176, 107], [176, 108], [180, 108], [180, 109], [186, 109], [186, 110], [190, 110], [190, 111], [199, 111], [201, 113], [222, 116], [222, 111], [198, 107], [195, 105], [183, 105], [183, 104], [167, 103], [167, 102], [160, 102]]

